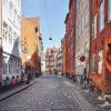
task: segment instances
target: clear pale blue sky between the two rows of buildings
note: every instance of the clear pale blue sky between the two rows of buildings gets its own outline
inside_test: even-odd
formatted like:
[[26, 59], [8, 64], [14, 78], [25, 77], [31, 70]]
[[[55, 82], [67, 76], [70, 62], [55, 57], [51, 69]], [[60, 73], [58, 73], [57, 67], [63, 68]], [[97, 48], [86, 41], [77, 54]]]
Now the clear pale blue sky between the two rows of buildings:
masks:
[[40, 18], [44, 52], [49, 47], [60, 47], [61, 38], [65, 33], [64, 19], [68, 6], [69, 0], [22, 0], [22, 16]]

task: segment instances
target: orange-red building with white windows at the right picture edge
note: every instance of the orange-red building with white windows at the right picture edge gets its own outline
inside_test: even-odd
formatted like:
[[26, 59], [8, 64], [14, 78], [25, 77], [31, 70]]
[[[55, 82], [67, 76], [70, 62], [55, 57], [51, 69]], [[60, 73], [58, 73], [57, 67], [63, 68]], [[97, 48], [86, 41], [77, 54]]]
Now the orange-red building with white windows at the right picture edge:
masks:
[[95, 88], [111, 92], [111, 0], [91, 0], [89, 78]]

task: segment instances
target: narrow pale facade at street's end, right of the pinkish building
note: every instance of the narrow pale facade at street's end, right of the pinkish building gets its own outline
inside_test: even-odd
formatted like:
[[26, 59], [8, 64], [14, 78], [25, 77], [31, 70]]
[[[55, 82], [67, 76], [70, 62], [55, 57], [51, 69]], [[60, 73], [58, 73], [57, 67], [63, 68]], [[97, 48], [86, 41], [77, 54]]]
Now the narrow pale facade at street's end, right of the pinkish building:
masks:
[[60, 48], [57, 54], [57, 71], [62, 74], [62, 49]]

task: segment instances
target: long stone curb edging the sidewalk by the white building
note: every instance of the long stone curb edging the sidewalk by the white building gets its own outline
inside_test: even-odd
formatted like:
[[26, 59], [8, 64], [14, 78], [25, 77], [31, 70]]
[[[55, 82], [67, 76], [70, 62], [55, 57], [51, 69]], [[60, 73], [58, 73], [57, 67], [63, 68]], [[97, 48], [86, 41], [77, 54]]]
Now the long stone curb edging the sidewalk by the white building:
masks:
[[27, 88], [31, 87], [31, 85], [34, 84], [36, 82], [37, 82], [37, 80], [33, 81], [32, 83], [28, 84], [28, 85], [24, 85], [24, 87], [22, 87], [22, 88], [20, 88], [20, 89], [18, 89], [18, 90], [16, 90], [16, 91], [9, 92], [8, 94], [6, 94], [6, 95], [3, 95], [3, 97], [0, 98], [0, 102], [3, 101], [3, 100], [7, 100], [8, 98], [10, 98], [10, 97], [12, 97], [12, 95], [14, 95], [14, 94], [17, 94], [17, 93], [23, 91], [23, 90], [26, 90]]

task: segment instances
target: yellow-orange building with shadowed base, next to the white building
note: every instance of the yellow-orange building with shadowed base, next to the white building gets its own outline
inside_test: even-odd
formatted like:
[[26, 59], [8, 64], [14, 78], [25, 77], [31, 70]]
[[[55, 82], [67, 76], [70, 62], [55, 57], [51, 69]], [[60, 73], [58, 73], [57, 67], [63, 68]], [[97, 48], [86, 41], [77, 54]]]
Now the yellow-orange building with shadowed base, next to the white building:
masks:
[[30, 65], [34, 73], [41, 73], [40, 18], [22, 18], [21, 48], [22, 65]]

